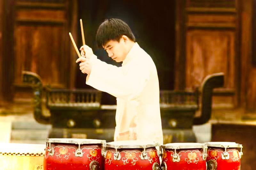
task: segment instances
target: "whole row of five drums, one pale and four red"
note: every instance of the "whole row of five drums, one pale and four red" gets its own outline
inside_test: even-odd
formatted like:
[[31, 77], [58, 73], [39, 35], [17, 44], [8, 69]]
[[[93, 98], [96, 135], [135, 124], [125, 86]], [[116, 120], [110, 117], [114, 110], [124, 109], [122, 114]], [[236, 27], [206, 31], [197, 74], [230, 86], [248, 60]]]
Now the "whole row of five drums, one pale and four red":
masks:
[[0, 170], [240, 170], [243, 146], [234, 142], [168, 143], [46, 139], [2, 144]]

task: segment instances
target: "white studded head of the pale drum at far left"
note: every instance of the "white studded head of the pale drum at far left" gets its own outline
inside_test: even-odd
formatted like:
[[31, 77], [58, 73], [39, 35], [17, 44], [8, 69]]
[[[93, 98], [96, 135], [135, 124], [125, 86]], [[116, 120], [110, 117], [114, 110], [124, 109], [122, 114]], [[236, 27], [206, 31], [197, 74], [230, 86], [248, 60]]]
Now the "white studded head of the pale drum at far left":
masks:
[[16, 155], [43, 155], [45, 145], [44, 144], [28, 144], [28, 143], [1, 143], [1, 154], [16, 154]]

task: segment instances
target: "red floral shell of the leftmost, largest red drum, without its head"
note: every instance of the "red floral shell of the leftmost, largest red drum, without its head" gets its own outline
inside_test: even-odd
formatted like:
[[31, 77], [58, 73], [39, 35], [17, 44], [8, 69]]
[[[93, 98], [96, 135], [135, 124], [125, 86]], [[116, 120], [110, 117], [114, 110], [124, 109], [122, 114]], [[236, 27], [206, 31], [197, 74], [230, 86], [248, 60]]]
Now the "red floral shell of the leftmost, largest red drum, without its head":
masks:
[[101, 155], [102, 144], [81, 144], [82, 157], [75, 155], [78, 144], [73, 143], [51, 143], [54, 150], [53, 156], [49, 155], [49, 145], [45, 149], [45, 170], [90, 170], [90, 163], [96, 161], [98, 170], [104, 169], [104, 157]]

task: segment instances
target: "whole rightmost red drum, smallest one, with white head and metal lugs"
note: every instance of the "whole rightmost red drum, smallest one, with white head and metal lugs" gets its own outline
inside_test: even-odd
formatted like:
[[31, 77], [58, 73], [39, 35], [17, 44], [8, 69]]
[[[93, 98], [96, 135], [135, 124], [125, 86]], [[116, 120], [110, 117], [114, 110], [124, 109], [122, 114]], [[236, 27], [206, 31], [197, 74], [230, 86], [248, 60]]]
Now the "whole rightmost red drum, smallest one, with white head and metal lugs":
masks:
[[[243, 155], [241, 144], [235, 142], [208, 142], [207, 166], [210, 170], [240, 170]], [[240, 150], [240, 152], [239, 152]]]

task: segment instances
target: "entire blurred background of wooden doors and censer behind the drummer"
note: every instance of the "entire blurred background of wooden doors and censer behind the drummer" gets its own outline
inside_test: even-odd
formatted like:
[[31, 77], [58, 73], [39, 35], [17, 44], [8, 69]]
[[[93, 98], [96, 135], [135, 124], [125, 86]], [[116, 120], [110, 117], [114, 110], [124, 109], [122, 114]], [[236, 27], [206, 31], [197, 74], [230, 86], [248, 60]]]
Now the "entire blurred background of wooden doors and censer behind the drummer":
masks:
[[[95, 44], [106, 18], [124, 20], [156, 64], [164, 143], [240, 143], [253, 169], [256, 0], [0, 0], [0, 142], [113, 139], [116, 99], [85, 84], [68, 35], [82, 46], [82, 19], [85, 43], [121, 66]], [[220, 72], [221, 85], [204, 84]]]

